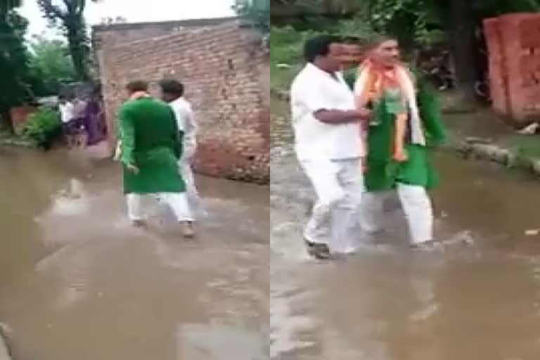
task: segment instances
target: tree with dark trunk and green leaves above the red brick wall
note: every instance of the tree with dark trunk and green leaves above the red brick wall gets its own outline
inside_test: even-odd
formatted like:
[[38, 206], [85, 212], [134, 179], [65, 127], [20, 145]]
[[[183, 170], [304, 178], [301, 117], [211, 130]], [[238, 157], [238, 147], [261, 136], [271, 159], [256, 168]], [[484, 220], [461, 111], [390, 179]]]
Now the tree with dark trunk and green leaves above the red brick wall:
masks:
[[479, 73], [477, 30], [482, 20], [503, 13], [539, 11], [540, 0], [368, 0], [373, 27], [425, 46], [446, 41], [456, 80], [466, 100], [475, 96]]

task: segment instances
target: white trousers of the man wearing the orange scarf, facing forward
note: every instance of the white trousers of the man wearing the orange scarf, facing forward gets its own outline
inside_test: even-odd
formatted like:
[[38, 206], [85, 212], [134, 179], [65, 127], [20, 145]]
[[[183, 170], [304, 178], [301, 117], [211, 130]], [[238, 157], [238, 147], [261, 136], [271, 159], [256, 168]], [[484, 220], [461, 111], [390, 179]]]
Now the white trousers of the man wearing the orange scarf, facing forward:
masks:
[[[383, 229], [383, 203], [387, 195], [387, 192], [364, 193], [361, 216], [364, 231], [374, 233]], [[433, 209], [425, 188], [398, 184], [397, 195], [409, 224], [411, 241], [419, 244], [433, 240]]]

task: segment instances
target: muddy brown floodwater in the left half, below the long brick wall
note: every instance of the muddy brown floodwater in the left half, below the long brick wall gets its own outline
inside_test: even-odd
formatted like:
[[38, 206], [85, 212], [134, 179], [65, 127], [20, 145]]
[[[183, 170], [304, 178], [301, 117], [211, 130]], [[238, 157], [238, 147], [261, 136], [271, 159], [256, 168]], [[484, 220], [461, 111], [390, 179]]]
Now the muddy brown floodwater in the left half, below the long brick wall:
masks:
[[0, 321], [14, 359], [268, 359], [269, 193], [200, 179], [209, 217], [177, 236], [124, 219], [120, 173], [0, 150]]

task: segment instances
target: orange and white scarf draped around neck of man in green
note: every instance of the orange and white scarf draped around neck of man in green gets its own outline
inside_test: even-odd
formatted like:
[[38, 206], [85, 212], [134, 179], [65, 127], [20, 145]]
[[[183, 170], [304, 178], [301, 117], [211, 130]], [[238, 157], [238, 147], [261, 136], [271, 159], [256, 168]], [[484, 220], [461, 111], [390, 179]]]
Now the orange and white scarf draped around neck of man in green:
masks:
[[391, 88], [400, 89], [402, 101], [409, 110], [412, 143], [425, 146], [425, 134], [416, 101], [416, 84], [413, 75], [404, 65], [394, 65], [394, 68], [389, 70], [375, 65], [371, 60], [364, 61], [359, 67], [354, 84], [356, 107], [366, 108], [370, 103], [377, 103], [385, 91]]

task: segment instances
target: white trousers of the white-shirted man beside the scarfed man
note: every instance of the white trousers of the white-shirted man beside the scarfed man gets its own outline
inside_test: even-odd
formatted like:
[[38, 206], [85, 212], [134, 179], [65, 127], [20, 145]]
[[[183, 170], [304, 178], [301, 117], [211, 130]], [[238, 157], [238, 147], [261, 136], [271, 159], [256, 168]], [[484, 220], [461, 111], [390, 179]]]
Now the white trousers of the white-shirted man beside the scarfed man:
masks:
[[324, 243], [332, 252], [357, 247], [364, 174], [360, 158], [300, 162], [317, 195], [304, 238]]

